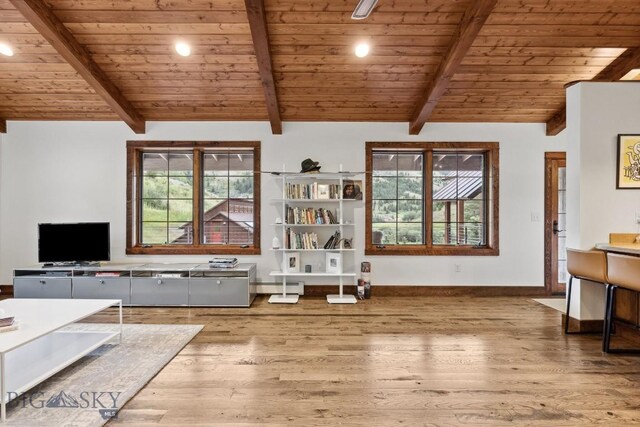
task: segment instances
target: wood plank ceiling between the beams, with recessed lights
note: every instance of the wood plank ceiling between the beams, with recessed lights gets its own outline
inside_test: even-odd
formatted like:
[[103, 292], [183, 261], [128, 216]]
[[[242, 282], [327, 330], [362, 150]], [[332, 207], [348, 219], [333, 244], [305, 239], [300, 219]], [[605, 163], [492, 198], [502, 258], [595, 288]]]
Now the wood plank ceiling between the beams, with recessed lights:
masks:
[[[0, 55], [0, 131], [4, 120], [122, 119], [13, 3], [0, 0], [0, 42], [15, 51]], [[427, 126], [555, 117], [557, 131], [565, 85], [640, 47], [638, 0], [486, 3], [496, 4], [470, 47], [456, 52], [461, 61], [439, 86]], [[269, 43], [257, 40], [259, 58], [244, 0], [44, 4], [144, 120], [271, 120], [277, 133], [280, 117], [410, 122], [464, 37], [474, 1], [379, 0], [369, 18], [353, 21], [357, 0], [265, 0]], [[192, 45], [191, 56], [175, 53], [179, 39]], [[359, 41], [370, 43], [369, 56], [353, 54]], [[625, 68], [640, 67], [633, 58]], [[274, 99], [276, 118], [267, 108]]]

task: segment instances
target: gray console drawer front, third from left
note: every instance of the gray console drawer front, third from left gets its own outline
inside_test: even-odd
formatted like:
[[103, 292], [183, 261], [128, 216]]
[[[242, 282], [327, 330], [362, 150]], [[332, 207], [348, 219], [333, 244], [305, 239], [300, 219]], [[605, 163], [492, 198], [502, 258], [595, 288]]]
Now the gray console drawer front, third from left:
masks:
[[188, 278], [132, 278], [131, 304], [134, 305], [187, 305], [189, 304]]

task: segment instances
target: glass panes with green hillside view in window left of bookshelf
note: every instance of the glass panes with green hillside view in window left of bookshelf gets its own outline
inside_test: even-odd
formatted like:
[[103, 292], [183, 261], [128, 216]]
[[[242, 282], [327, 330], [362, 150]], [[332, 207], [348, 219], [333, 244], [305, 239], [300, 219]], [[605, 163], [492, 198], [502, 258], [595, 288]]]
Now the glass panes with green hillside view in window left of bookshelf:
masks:
[[142, 154], [141, 243], [193, 243], [194, 155], [202, 155], [201, 241], [253, 243], [253, 153], [216, 150]]

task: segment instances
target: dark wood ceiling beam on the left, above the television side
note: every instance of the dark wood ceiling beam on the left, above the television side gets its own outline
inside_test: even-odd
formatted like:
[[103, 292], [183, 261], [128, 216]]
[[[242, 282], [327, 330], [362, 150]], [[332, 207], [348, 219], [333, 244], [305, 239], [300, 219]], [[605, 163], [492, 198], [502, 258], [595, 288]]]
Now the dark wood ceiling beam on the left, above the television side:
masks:
[[135, 133], [145, 132], [144, 118], [42, 0], [10, 1]]

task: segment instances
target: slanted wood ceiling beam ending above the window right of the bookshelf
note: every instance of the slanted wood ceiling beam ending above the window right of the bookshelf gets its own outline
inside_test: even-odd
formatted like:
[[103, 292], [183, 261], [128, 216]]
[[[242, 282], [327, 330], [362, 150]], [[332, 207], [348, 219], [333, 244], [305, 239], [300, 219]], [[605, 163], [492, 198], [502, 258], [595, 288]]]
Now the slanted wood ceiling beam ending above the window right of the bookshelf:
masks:
[[471, 2], [460, 21], [460, 25], [453, 35], [446, 56], [440, 63], [433, 80], [418, 103], [409, 124], [409, 134], [418, 135], [427, 119], [436, 107], [440, 97], [444, 94], [449, 80], [464, 59], [467, 51], [482, 29], [491, 10], [498, 0], [477, 0]]

